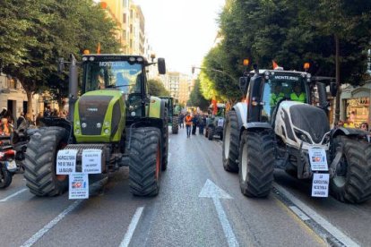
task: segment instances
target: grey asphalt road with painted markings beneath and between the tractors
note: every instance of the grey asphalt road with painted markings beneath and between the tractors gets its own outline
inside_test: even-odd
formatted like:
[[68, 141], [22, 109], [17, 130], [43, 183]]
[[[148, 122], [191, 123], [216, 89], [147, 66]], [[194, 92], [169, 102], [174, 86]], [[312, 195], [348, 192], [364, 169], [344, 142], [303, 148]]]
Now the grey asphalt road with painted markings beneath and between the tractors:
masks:
[[187, 139], [184, 129], [169, 137], [168, 170], [154, 198], [131, 195], [128, 168], [89, 200], [39, 198], [14, 175], [0, 191], [0, 246], [370, 245], [371, 201], [313, 199], [310, 183], [281, 171], [267, 199], [248, 199], [222, 167], [220, 141]]

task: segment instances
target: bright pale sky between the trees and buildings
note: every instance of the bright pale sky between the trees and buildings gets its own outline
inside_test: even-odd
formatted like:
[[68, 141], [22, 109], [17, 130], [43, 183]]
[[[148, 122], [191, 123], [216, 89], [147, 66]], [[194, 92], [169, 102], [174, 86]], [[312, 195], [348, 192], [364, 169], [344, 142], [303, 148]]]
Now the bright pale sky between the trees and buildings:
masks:
[[168, 70], [191, 73], [212, 47], [225, 0], [134, 0], [145, 18], [150, 45]]

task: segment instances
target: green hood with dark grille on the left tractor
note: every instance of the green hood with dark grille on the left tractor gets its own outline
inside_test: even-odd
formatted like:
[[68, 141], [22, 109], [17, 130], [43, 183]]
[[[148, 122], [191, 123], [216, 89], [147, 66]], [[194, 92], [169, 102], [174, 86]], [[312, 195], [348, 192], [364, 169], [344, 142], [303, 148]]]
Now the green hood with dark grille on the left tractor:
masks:
[[78, 142], [118, 141], [121, 133], [116, 134], [125, 124], [122, 92], [104, 89], [82, 95], [74, 109], [74, 120], [73, 132]]

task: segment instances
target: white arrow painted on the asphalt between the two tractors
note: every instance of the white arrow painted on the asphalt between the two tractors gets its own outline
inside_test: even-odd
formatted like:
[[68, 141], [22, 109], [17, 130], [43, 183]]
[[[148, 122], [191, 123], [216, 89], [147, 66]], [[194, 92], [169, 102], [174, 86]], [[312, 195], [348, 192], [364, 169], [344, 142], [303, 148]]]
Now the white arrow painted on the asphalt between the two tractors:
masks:
[[214, 203], [215, 209], [218, 213], [220, 225], [223, 228], [223, 232], [226, 236], [229, 247], [239, 246], [236, 235], [233, 233], [232, 227], [229, 224], [228, 217], [224, 212], [223, 206], [220, 202], [220, 199], [232, 199], [232, 197], [227, 192], [224, 192], [222, 189], [220, 189], [215, 183], [212, 183], [209, 179], [203, 185], [203, 189], [201, 190], [198, 197], [212, 199], [212, 202]]

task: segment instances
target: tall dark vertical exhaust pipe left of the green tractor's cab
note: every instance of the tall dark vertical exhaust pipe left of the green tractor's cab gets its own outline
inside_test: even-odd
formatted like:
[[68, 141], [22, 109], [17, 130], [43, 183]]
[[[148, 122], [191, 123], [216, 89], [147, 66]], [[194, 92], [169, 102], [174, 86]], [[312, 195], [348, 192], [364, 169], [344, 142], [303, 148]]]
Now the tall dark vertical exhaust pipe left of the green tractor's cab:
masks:
[[71, 64], [70, 64], [70, 73], [69, 73], [69, 82], [68, 82], [68, 120], [73, 122], [73, 112], [74, 104], [77, 100], [77, 81], [78, 79], [78, 68], [77, 60], [74, 55], [71, 54]]

